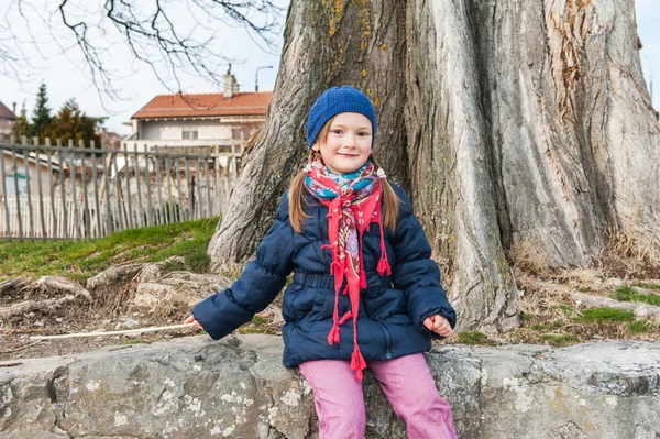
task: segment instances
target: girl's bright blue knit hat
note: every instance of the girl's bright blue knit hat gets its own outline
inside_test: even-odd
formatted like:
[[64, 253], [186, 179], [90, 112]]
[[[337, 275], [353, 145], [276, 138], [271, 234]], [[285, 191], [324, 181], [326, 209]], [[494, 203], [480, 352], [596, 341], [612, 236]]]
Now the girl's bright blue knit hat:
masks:
[[339, 113], [364, 114], [372, 122], [372, 136], [376, 135], [376, 110], [362, 91], [351, 86], [327, 89], [311, 106], [307, 118], [307, 142], [309, 147], [330, 119]]

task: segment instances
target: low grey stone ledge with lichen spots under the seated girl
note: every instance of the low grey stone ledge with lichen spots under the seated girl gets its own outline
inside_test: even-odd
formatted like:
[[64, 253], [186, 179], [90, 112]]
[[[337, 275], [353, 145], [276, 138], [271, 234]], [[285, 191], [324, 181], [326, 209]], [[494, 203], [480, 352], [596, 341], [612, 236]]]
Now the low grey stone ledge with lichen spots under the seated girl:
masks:
[[[316, 438], [311, 389], [282, 339], [206, 336], [0, 363], [0, 436]], [[660, 343], [436, 347], [461, 438], [660, 437]], [[404, 438], [371, 374], [367, 438]]]

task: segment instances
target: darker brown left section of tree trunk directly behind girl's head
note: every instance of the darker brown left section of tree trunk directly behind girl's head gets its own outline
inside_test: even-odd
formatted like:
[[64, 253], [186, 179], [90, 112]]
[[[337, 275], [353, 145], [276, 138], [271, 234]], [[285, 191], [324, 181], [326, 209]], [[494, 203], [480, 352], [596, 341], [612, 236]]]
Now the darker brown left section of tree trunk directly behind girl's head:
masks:
[[212, 272], [235, 272], [254, 253], [282, 194], [306, 163], [307, 114], [330, 86], [350, 84], [371, 98], [378, 118], [374, 153], [389, 177], [407, 186], [402, 4], [292, 1], [266, 122], [243, 157], [230, 206], [209, 244]]

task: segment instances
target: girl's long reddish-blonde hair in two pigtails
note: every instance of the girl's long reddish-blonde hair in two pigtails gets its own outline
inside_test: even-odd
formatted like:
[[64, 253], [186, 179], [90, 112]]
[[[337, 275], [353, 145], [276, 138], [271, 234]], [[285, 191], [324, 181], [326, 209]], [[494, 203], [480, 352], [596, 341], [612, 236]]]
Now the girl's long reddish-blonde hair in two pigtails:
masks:
[[[334, 119], [334, 118], [332, 118], [332, 119]], [[319, 132], [319, 135], [317, 138], [317, 139], [320, 139], [321, 142], [323, 142], [323, 143], [328, 139], [328, 133], [330, 131], [330, 124], [332, 123], [332, 119], [330, 119], [328, 122], [326, 122], [326, 124], [323, 125], [323, 128], [321, 129], [321, 131]], [[376, 163], [373, 152], [369, 157], [374, 163], [374, 165], [376, 165], [377, 168], [381, 167]], [[321, 153], [319, 153], [318, 151], [310, 150], [307, 163], [311, 163], [317, 158], [320, 158], [322, 161]], [[289, 194], [288, 194], [289, 220], [292, 222], [292, 227], [298, 233], [300, 233], [302, 231], [302, 223], [305, 222], [305, 220], [308, 218], [311, 218], [309, 215], [305, 213], [305, 210], [304, 210], [304, 205], [306, 205], [306, 200], [305, 200], [305, 190], [306, 190], [305, 189], [305, 177], [306, 176], [307, 176], [307, 173], [305, 172], [305, 169], [300, 169], [300, 172], [298, 172], [298, 175], [296, 175], [294, 177], [294, 180], [292, 182], [292, 185], [289, 187]], [[396, 229], [396, 220], [398, 217], [400, 199], [396, 195], [394, 189], [392, 188], [392, 185], [389, 184], [389, 182], [387, 182], [387, 178], [383, 178], [381, 182], [383, 184], [383, 202], [384, 202], [383, 227], [386, 227], [389, 230], [394, 231]]]

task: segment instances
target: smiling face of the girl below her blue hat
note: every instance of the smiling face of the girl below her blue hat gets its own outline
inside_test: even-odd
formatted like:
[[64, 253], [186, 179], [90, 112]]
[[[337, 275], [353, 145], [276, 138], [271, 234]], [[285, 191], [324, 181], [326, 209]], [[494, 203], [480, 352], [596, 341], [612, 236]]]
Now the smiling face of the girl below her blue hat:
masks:
[[366, 116], [339, 113], [330, 123], [328, 139], [317, 140], [311, 149], [321, 153], [331, 173], [348, 174], [366, 163], [372, 141], [372, 124]]

